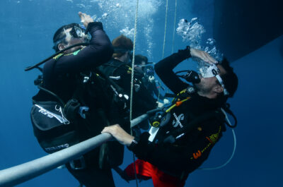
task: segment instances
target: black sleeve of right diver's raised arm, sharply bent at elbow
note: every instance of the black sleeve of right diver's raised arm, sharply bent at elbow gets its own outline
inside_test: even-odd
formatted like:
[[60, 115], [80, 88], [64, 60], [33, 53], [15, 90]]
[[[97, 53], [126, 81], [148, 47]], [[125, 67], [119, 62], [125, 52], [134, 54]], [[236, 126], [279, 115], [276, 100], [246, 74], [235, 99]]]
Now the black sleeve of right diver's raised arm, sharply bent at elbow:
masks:
[[189, 57], [189, 49], [179, 50], [178, 53], [174, 53], [171, 56], [166, 57], [154, 66], [156, 74], [175, 94], [178, 94], [181, 90], [187, 88], [188, 85], [175, 75], [173, 68]]

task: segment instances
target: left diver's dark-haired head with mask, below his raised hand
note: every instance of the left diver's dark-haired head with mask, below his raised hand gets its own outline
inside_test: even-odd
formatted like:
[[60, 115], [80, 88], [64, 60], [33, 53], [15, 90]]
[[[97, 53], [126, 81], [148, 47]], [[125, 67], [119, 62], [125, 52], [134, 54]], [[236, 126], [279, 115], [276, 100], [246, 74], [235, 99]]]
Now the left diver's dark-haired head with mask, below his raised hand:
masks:
[[[81, 28], [81, 26], [77, 23], [71, 23], [69, 25], [63, 25], [61, 28], [59, 28], [53, 37], [53, 43], [54, 47], [53, 49], [56, 52], [59, 52], [63, 49], [66, 49], [67, 47], [79, 44], [82, 42], [86, 42], [89, 40], [89, 36], [85, 34], [85, 29]], [[73, 47], [69, 50], [67, 50], [64, 53], [70, 53], [74, 52], [77, 49], [80, 49], [81, 47]]]

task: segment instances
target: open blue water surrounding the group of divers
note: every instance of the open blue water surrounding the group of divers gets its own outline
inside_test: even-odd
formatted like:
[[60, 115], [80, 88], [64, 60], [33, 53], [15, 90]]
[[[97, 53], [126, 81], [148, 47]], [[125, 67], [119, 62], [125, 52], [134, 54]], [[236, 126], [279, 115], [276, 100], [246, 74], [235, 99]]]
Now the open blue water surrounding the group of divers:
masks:
[[[116, 6], [118, 3], [120, 7]], [[137, 53], [154, 62], [162, 57], [165, 7], [165, 1], [158, 0], [141, 1], [139, 7]], [[23, 69], [53, 54], [54, 31], [67, 23], [79, 23], [79, 11], [98, 18], [108, 13], [102, 22], [111, 40], [120, 35], [120, 30], [134, 28], [135, 1], [2, 0], [0, 10], [0, 169], [6, 169], [46, 155], [37, 144], [30, 123], [31, 97], [37, 92], [33, 80], [38, 72]], [[203, 1], [200, 7], [192, 6], [192, 1], [178, 1], [177, 23], [182, 18], [202, 18], [200, 23], [207, 30], [203, 37], [212, 37], [213, 10], [210, 0]], [[169, 1], [165, 56], [172, 50], [174, 11], [175, 1]], [[223, 169], [193, 172], [186, 186], [283, 186], [282, 43], [283, 37], [279, 37], [233, 62], [239, 78], [238, 92], [229, 100], [238, 117], [236, 155]], [[174, 51], [187, 44], [175, 35]], [[185, 61], [178, 68], [188, 66]], [[233, 138], [228, 129], [203, 166], [223, 164], [232, 150]], [[131, 162], [132, 154], [126, 150], [122, 168]], [[113, 173], [117, 186], [135, 186], [134, 181], [127, 184]], [[19, 186], [79, 183], [66, 169], [54, 169]], [[143, 181], [139, 186], [153, 185]]]

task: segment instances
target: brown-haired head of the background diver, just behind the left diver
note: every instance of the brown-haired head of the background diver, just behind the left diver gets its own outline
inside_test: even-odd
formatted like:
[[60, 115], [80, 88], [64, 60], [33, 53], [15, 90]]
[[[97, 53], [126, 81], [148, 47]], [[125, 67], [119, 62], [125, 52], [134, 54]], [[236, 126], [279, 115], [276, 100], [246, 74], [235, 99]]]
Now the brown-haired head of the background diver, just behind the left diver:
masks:
[[112, 57], [122, 62], [129, 63], [134, 46], [132, 40], [124, 35], [120, 35], [112, 41], [112, 46], [114, 48], [114, 54]]

